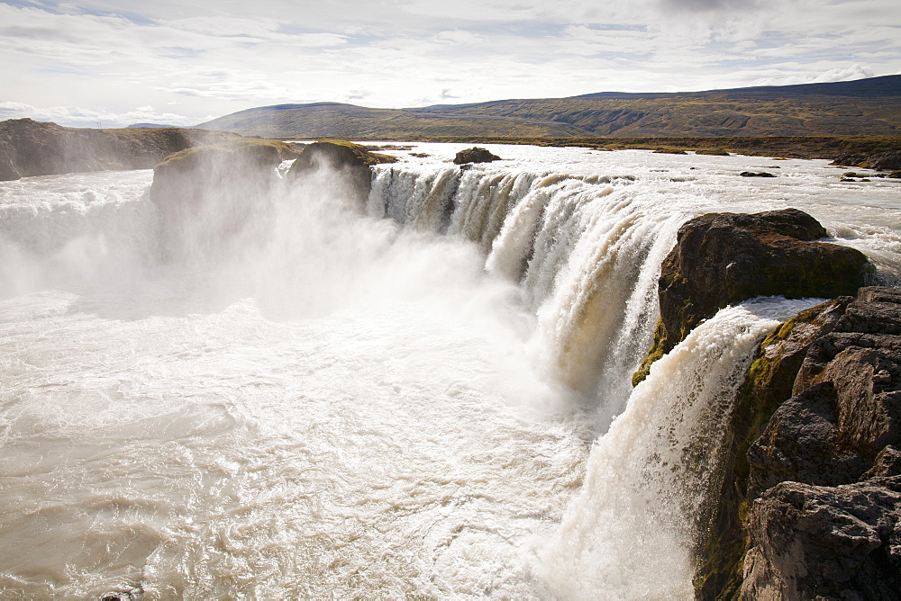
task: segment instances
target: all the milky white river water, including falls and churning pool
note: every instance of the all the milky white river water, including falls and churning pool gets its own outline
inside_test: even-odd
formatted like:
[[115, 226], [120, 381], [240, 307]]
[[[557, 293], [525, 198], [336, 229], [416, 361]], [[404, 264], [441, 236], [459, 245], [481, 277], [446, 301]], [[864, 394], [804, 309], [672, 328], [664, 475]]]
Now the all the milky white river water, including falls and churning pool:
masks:
[[896, 282], [901, 184], [460, 148], [376, 167], [367, 216], [277, 180], [197, 260], [162, 258], [150, 171], [0, 183], [0, 595], [691, 597], [684, 460], [815, 301], [724, 309], [633, 390], [660, 261], [792, 206]]

